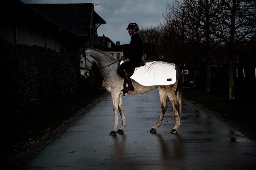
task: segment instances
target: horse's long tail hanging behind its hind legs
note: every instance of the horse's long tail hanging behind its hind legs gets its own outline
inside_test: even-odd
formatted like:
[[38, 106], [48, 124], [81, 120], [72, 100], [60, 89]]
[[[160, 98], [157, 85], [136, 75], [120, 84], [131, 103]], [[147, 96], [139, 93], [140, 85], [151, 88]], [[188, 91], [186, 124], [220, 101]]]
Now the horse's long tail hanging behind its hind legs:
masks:
[[[176, 70], [178, 71], [178, 74], [177, 74], [177, 76], [178, 76], [178, 83], [177, 83], [177, 88], [176, 88], [176, 91], [175, 91], [175, 95], [176, 95], [176, 98], [177, 98], [177, 100], [179, 102], [179, 105], [180, 105], [180, 107], [179, 107], [179, 115], [181, 117], [181, 111], [182, 111], [182, 92], [181, 92], [181, 90], [182, 90], [182, 77], [181, 77], [181, 72], [180, 72], [179, 67], [176, 66]], [[172, 116], [175, 117], [174, 110], [173, 110]]]

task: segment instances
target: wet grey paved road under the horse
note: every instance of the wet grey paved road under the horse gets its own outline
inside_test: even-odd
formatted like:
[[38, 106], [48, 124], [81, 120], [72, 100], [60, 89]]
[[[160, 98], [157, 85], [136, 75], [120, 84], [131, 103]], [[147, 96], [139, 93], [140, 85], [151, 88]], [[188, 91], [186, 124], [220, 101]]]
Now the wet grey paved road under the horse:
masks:
[[[123, 96], [127, 126], [114, 126], [110, 94], [30, 159], [23, 169], [255, 169], [256, 142], [183, 100], [178, 134], [172, 104], [156, 134], [158, 90]], [[119, 115], [119, 127], [122, 124]]]

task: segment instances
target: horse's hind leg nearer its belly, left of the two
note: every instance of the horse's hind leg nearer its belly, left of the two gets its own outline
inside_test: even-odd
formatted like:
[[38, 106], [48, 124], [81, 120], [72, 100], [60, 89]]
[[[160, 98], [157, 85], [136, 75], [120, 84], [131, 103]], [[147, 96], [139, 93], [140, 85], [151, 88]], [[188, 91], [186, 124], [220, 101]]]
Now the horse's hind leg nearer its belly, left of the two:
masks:
[[167, 109], [167, 93], [161, 87], [158, 87], [158, 91], [159, 91], [160, 102], [161, 102], [161, 113], [159, 115], [156, 125], [150, 129], [150, 133], [156, 133], [156, 128], [161, 126], [165, 111]]

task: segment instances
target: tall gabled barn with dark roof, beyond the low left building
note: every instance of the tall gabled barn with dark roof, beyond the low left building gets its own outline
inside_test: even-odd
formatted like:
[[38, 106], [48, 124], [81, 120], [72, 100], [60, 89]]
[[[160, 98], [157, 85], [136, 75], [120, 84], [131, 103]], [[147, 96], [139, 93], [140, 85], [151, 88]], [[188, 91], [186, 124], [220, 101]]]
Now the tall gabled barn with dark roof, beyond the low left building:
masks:
[[98, 44], [97, 28], [106, 24], [95, 11], [93, 3], [86, 4], [28, 4], [76, 35], [76, 48], [93, 49]]

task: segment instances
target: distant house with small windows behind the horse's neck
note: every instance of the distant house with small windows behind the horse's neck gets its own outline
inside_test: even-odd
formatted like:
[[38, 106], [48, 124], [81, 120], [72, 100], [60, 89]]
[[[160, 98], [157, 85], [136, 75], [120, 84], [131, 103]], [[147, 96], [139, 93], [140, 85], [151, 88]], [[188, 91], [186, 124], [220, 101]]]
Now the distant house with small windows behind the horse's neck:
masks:
[[98, 45], [97, 48], [105, 53], [112, 55], [113, 57], [119, 59], [123, 55], [123, 51], [118, 47], [120, 41], [117, 41], [116, 44], [111, 41], [108, 37], [98, 36]]

